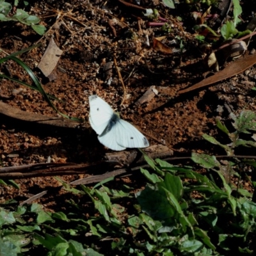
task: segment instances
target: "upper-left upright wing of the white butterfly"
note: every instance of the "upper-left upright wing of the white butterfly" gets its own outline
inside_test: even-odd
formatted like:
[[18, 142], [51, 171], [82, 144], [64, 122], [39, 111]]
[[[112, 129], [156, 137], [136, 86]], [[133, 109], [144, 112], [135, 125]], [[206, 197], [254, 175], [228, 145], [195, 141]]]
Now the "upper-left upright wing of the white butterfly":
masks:
[[114, 111], [106, 101], [100, 99], [97, 95], [89, 97], [89, 104], [90, 125], [92, 126], [92, 129], [100, 135], [108, 126], [109, 120], [111, 120], [111, 116], [113, 116]]

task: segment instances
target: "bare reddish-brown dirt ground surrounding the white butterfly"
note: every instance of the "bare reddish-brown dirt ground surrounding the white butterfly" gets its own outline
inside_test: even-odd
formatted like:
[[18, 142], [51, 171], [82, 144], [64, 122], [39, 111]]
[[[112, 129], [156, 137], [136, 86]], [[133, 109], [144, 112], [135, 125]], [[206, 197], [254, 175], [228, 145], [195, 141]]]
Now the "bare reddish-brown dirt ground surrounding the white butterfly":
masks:
[[[256, 81], [255, 67], [220, 83], [177, 95], [179, 90], [204, 79], [205, 74], [200, 42], [193, 36], [195, 20], [190, 15], [193, 10], [186, 4], [183, 9], [170, 10], [157, 0], [141, 1], [141, 6], [157, 8], [171, 25], [170, 32], [148, 27], [141, 10], [129, 8], [122, 1], [35, 1], [28, 10], [31, 8], [31, 13], [38, 15], [47, 27], [44, 36], [17, 22], [0, 23], [0, 48], [8, 54], [41, 43], [19, 58], [35, 72], [45, 91], [61, 100], [54, 100], [59, 111], [84, 119], [76, 128], [60, 128], [1, 115], [1, 166], [84, 164], [104, 159], [106, 153], [112, 151], [99, 143], [88, 122], [88, 97], [93, 94], [102, 97], [124, 120], [138, 127], [150, 145], [162, 143], [173, 150], [173, 156], [190, 156], [191, 151], [225, 154], [204, 141], [202, 134], [225, 141], [225, 136], [216, 129], [215, 118], [220, 118], [232, 129], [230, 111], [255, 111], [255, 91], [252, 90]], [[242, 7], [245, 24], [250, 20], [250, 12], [246, 12], [250, 8], [246, 4]], [[166, 36], [162, 42], [172, 49], [172, 53], [152, 47], [153, 37], [159, 36]], [[37, 68], [51, 38], [63, 51], [52, 71], [52, 81]], [[253, 48], [255, 41], [252, 40], [250, 50]], [[1, 58], [4, 52], [0, 52]], [[122, 106], [124, 88], [116, 68], [120, 70], [127, 91]], [[1, 72], [31, 83], [28, 74], [13, 61], [2, 64]], [[158, 93], [148, 102], [136, 104], [150, 86], [156, 86]], [[28, 115], [60, 116], [40, 93], [7, 79], [1, 80], [0, 99]], [[248, 152], [255, 154], [252, 148]], [[243, 155], [245, 153], [243, 150]], [[81, 177], [84, 175], [62, 178], [69, 182]], [[0, 202], [10, 198], [22, 202], [45, 188], [60, 186], [52, 177], [15, 182], [20, 189], [2, 187]], [[44, 198], [40, 200], [47, 207], [53, 204], [54, 197], [47, 202]]]

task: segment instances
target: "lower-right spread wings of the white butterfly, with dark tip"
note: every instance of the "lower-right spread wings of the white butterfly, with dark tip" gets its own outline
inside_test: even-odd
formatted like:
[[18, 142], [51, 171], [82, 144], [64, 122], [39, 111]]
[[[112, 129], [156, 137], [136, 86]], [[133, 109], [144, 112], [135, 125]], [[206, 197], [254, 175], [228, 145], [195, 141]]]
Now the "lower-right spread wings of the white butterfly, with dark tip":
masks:
[[145, 148], [149, 146], [147, 138], [138, 129], [120, 118], [116, 118], [115, 122], [109, 125], [108, 129], [98, 138], [100, 143], [106, 147], [118, 151], [125, 148]]

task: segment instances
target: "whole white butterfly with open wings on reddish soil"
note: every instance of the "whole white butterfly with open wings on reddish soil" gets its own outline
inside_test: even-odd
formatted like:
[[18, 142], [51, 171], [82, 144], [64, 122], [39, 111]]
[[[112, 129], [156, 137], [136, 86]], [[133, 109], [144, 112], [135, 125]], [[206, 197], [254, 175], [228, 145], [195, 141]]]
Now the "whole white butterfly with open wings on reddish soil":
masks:
[[104, 146], [113, 150], [125, 148], [145, 148], [149, 146], [147, 138], [133, 125], [120, 119], [107, 102], [97, 95], [89, 97], [89, 121], [98, 139]]

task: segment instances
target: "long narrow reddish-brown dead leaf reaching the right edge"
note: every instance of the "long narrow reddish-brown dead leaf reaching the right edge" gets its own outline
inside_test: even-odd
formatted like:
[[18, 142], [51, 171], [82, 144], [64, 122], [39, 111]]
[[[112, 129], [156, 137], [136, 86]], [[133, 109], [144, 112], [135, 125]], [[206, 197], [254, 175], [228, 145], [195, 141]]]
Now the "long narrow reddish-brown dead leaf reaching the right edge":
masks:
[[196, 90], [198, 88], [202, 88], [204, 86], [207, 86], [209, 84], [217, 83], [221, 80], [227, 79], [232, 76], [236, 76], [237, 74], [243, 72], [247, 68], [252, 67], [256, 63], [256, 54], [246, 56], [245, 58], [241, 58], [237, 61], [232, 62], [228, 67], [224, 68], [220, 72], [214, 74], [213, 76], [207, 77], [203, 81], [200, 81], [197, 84], [194, 84], [193, 86], [180, 90], [177, 92], [178, 94], [191, 92], [193, 90]]

